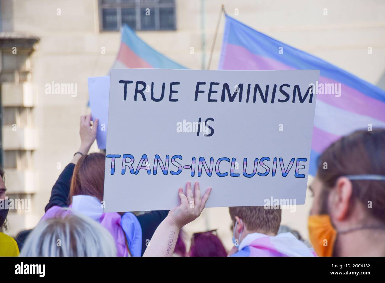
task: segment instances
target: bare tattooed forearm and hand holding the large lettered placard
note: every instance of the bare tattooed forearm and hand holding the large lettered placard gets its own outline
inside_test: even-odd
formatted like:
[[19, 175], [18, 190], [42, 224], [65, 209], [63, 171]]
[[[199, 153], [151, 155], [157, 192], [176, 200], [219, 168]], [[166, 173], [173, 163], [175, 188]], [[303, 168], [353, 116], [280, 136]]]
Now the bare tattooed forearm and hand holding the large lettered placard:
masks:
[[179, 188], [181, 205], [172, 209], [155, 230], [143, 256], [172, 256], [180, 229], [201, 215], [210, 192], [211, 188], [208, 188], [201, 198], [198, 182], [194, 184], [195, 196], [192, 193], [190, 182], [186, 184], [186, 195], [183, 193], [183, 189]]

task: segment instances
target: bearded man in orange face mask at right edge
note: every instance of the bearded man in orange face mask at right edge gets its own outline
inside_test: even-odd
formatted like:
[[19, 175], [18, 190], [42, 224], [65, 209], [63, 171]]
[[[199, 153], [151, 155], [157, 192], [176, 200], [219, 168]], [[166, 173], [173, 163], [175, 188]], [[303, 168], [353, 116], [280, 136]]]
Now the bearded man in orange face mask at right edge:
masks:
[[385, 256], [385, 129], [331, 144], [309, 189], [309, 237], [319, 256]]

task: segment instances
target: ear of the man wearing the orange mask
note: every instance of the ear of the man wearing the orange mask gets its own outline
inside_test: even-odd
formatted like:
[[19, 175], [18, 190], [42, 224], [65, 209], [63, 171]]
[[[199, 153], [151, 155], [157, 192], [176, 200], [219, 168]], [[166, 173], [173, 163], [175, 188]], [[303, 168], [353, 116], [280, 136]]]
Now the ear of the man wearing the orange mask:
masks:
[[352, 182], [346, 177], [337, 179], [333, 193], [331, 194], [331, 213], [338, 221], [346, 218], [353, 194]]

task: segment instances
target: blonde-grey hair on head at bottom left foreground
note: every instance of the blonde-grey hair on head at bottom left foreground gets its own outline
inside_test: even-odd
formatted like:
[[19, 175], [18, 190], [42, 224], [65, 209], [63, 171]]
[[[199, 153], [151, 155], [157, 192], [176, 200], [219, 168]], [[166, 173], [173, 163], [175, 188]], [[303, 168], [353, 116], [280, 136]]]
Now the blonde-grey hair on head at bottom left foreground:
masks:
[[[65, 212], [67, 209], [63, 209]], [[20, 256], [116, 256], [112, 235], [91, 218], [71, 211], [40, 221]]]

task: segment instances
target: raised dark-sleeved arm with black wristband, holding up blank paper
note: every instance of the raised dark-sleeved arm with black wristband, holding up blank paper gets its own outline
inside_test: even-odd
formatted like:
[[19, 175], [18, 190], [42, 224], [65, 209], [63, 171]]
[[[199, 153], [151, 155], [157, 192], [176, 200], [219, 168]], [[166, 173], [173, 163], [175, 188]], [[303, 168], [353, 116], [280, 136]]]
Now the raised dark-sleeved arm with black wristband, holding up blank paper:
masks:
[[74, 172], [75, 165], [79, 161], [80, 157], [82, 157], [82, 155], [88, 153], [92, 143], [95, 141], [98, 120], [95, 120], [94, 126], [91, 125], [90, 121], [90, 114], [80, 117], [81, 143], [79, 150], [72, 158], [70, 164], [65, 166], [63, 172], [60, 174], [56, 183], [52, 187], [51, 197], [47, 206], [45, 206], [45, 211], [50, 209], [52, 206], [68, 206], [68, 195], [70, 192], [71, 178], [72, 173]]

